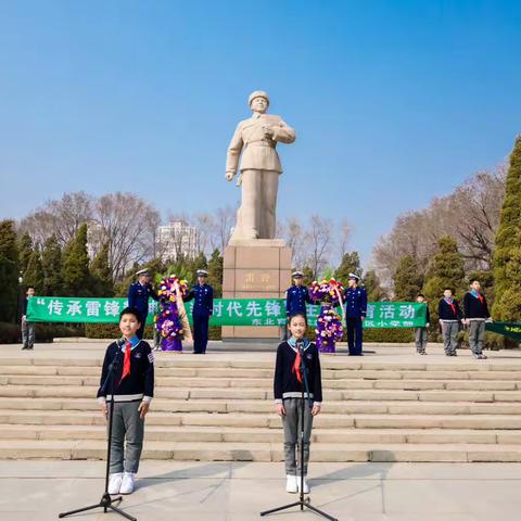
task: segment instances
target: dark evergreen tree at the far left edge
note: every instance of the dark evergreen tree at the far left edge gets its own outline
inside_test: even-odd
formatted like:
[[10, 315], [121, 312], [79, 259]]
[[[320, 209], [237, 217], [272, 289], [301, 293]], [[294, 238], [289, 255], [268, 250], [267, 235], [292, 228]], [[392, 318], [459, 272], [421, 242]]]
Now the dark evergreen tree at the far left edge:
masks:
[[14, 322], [18, 305], [18, 245], [14, 220], [0, 220], [0, 322]]

